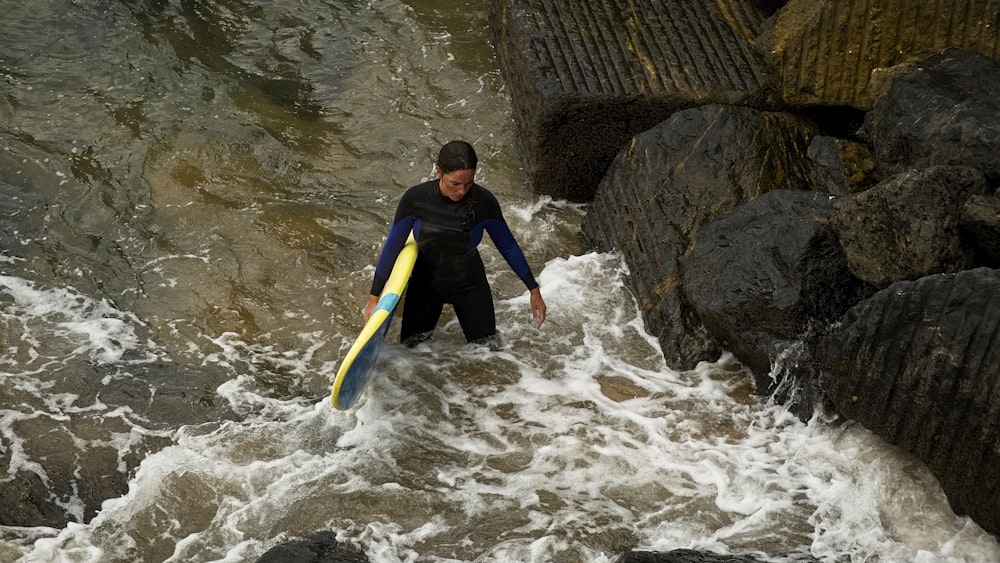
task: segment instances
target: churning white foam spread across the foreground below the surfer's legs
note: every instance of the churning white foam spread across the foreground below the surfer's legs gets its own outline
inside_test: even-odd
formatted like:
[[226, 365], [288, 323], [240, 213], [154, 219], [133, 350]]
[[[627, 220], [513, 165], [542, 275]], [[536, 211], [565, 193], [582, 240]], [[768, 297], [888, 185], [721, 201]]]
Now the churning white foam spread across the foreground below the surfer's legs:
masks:
[[[417, 350], [390, 344], [352, 411], [327, 397], [264, 396], [252, 374], [233, 379], [219, 393], [245, 422], [182, 429], [143, 461], [126, 496], [89, 526], [38, 540], [28, 560], [133, 549], [250, 560], [286, 533], [321, 529], [377, 561], [611, 561], [632, 544], [851, 561], [1000, 557], [921, 464], [863, 428], [804, 424], [748, 399], [728, 356], [667, 368], [623, 297], [619, 257], [553, 260], [540, 279], [551, 325], [533, 328], [517, 295], [497, 307], [507, 350], [468, 347], [454, 329]], [[294, 364], [309, 354], [232, 335], [214, 343], [214, 361], [232, 365], [309, 364]], [[612, 377], [632, 395], [606, 394]]]

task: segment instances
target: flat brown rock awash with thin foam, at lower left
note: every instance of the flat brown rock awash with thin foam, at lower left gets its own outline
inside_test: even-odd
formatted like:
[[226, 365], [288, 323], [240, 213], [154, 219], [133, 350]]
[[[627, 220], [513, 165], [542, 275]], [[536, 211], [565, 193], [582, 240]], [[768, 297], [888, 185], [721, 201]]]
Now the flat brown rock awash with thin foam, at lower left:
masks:
[[[57, 416], [11, 420], [16, 435], [44, 439], [22, 445], [37, 468], [22, 468], [16, 480], [0, 483], [0, 525], [60, 528], [88, 522], [105, 500], [128, 492], [143, 458], [173, 443], [169, 432], [158, 431], [238, 418], [215, 394], [223, 374], [183, 373], [164, 363], [134, 364], [129, 373], [113, 370], [94, 364], [65, 378], [61, 390], [76, 397], [75, 405], [94, 405], [74, 413], [71, 425]], [[119, 417], [101, 408], [108, 404], [121, 409]], [[121, 444], [121, 436], [130, 434], [132, 441]], [[11, 459], [0, 462], [6, 469]]]

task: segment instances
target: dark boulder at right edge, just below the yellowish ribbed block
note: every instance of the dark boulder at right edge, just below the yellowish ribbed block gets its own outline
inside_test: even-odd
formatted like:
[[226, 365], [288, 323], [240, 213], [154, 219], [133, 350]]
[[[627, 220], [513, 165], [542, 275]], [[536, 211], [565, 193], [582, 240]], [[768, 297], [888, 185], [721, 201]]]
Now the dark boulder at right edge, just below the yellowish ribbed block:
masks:
[[1000, 182], [998, 91], [1000, 64], [968, 51], [949, 49], [898, 69], [860, 131], [875, 150], [880, 177], [954, 165]]

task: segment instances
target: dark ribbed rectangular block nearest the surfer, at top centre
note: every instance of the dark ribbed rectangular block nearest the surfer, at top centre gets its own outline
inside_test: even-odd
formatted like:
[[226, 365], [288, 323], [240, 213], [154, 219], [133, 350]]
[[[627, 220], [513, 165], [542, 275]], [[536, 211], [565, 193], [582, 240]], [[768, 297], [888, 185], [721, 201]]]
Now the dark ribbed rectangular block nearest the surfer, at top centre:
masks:
[[493, 0], [490, 28], [535, 191], [589, 201], [634, 135], [678, 109], [765, 98], [738, 0]]

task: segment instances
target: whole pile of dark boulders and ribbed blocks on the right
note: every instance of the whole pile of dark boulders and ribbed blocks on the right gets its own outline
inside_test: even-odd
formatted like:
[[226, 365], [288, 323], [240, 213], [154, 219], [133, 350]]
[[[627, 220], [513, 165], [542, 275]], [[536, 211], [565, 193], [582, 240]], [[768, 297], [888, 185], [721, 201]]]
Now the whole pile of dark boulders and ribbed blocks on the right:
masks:
[[[625, 22], [607, 16], [629, 8], [599, 3], [605, 17], [594, 21], [605, 34], [555, 33], [563, 41], [556, 51], [538, 35], [558, 23], [539, 25], [524, 13], [524, 6], [544, 12], [540, 5], [495, 4], [529, 177], [538, 191], [586, 199], [587, 189], [561, 191], [569, 172], [555, 175], [554, 191], [539, 189], [538, 180], [554, 169], [546, 159], [572, 168], [581, 154], [594, 154], [577, 149], [594, 144], [606, 121], [579, 108], [597, 107], [598, 99], [620, 104], [602, 112], [614, 119], [636, 109], [627, 95], [595, 97], [592, 84], [577, 88], [568, 78], [618, 84], [579, 53], [628, 36]], [[622, 253], [646, 326], [670, 365], [687, 369], [728, 349], [762, 392], [798, 380], [809, 390], [806, 402], [830, 401], [927, 461], [956, 512], [1000, 533], [1000, 475], [986, 469], [1000, 451], [992, 302], [1000, 258], [1000, 1], [918, 4], [791, 0], [761, 26], [730, 26], [732, 41], [762, 48], [748, 60], [760, 56], [771, 66], [753, 66], [751, 74], [763, 76], [725, 104], [706, 103], [733, 93], [716, 81], [697, 91], [678, 87], [719, 68], [699, 58], [708, 42], [682, 45], [695, 54], [677, 57], [693, 66], [669, 77], [673, 85], [651, 89], [653, 98], [671, 92], [673, 102], [658, 107], [670, 116], [575, 176], [589, 186], [608, 163], [582, 230], [597, 250]], [[722, 5], [698, 12], [698, 21], [722, 13]], [[646, 8], [655, 21], [694, 14]], [[565, 23], [579, 13], [552, 8], [547, 17]], [[566, 60], [542, 63], [541, 53]], [[681, 59], [654, 57], [647, 68]], [[734, 75], [747, 68], [712, 62], [733, 65]], [[855, 112], [863, 114], [860, 127]], [[566, 124], [576, 138], [560, 136]], [[540, 147], [552, 152], [540, 159]], [[885, 289], [872, 296], [878, 288]], [[919, 408], [910, 412], [911, 404]], [[807, 404], [796, 408], [808, 417]]]

